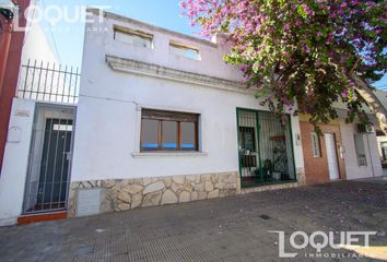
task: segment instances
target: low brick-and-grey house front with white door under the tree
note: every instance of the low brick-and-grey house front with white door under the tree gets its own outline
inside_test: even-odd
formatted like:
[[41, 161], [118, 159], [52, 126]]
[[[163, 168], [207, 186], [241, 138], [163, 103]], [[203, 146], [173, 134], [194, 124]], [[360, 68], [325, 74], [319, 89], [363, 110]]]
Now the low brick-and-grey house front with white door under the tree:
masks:
[[300, 117], [306, 183], [382, 176], [375, 116], [366, 109], [372, 126], [345, 123], [345, 106], [335, 107], [339, 118], [319, 126], [324, 136], [317, 135], [306, 116]]

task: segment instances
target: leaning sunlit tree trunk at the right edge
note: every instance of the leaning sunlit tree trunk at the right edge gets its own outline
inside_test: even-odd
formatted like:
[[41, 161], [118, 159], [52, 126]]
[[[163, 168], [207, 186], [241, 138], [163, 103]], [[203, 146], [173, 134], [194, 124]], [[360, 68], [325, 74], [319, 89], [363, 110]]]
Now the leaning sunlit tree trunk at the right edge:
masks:
[[355, 73], [351, 73], [350, 79], [355, 83], [357, 93], [367, 103], [371, 110], [379, 121], [382, 131], [387, 135], [387, 110], [379, 102], [372, 87]]

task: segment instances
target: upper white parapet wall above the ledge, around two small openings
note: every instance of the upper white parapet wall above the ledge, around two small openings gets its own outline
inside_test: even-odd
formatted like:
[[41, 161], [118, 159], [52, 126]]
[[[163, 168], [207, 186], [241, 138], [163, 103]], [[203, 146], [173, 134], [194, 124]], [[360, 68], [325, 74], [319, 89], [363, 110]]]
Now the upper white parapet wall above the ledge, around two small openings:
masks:
[[[224, 38], [214, 38], [213, 41], [218, 40], [216, 44], [192, 36], [186, 36], [179, 33], [166, 31], [161, 27], [144, 24], [142, 22], [129, 20], [122, 16], [119, 17], [119, 20], [106, 17], [103, 23], [99, 23], [96, 15], [90, 16], [90, 20], [94, 19], [94, 22], [86, 23], [84, 58], [91, 56], [91, 53], [93, 53], [92, 49], [96, 48], [98, 50], [104, 50], [103, 53], [93, 53], [95, 59], [99, 61], [101, 59], [102, 61], [105, 61], [105, 55], [108, 53], [120, 58], [130, 58], [133, 60], [187, 72], [207, 74], [225, 80], [243, 81], [244, 78], [241, 70], [235, 67], [231, 67], [223, 61], [223, 56], [228, 49], [226, 47], [227, 45], [224, 45]], [[113, 31], [114, 25], [129, 27], [131, 29], [138, 29], [153, 35], [153, 48], [143, 48], [115, 40]], [[198, 61], [169, 53], [169, 40], [198, 48], [201, 60]], [[89, 62], [83, 62], [83, 68], [85, 68], [85, 66], [89, 68], [91, 64]]]

